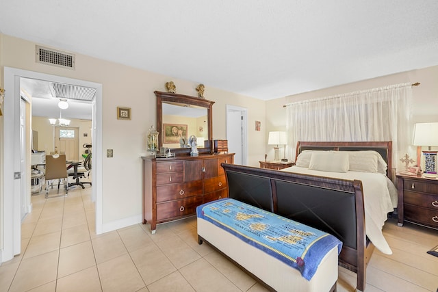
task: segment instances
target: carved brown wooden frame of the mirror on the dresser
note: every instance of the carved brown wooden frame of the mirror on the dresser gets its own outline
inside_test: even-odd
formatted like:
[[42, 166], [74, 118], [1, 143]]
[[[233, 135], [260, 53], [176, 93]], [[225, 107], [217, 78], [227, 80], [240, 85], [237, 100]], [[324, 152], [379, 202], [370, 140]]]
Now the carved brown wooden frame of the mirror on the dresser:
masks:
[[[184, 94], [154, 91], [157, 96], [157, 131], [158, 149], [163, 146], [163, 102], [181, 103], [181, 105], [196, 105], [197, 107], [205, 107], [207, 109], [207, 127], [208, 140], [205, 140], [205, 148], [198, 148], [199, 154], [213, 153], [213, 104], [214, 101], [208, 101], [204, 98], [188, 96]], [[190, 155], [190, 148], [170, 148], [177, 155]]]

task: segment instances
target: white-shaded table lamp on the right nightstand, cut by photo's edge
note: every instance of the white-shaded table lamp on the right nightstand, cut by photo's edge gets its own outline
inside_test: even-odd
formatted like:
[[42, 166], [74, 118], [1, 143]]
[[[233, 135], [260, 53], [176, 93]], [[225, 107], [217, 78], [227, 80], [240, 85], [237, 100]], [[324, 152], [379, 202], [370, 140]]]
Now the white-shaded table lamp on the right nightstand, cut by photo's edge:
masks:
[[[437, 176], [437, 151], [430, 146], [438, 146], [438, 122], [421, 122], [415, 124], [413, 132], [413, 145], [417, 146], [417, 163], [420, 165], [420, 152], [424, 155], [425, 176]], [[428, 150], [421, 150], [428, 146]]]

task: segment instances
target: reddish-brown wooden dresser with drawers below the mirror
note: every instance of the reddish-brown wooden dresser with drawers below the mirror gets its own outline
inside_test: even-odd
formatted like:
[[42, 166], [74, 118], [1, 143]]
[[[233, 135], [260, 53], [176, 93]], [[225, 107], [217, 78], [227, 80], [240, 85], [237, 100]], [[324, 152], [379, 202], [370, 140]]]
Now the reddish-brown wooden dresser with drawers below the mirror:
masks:
[[143, 159], [143, 224], [157, 224], [196, 213], [205, 202], [228, 196], [220, 163], [233, 163], [234, 154]]

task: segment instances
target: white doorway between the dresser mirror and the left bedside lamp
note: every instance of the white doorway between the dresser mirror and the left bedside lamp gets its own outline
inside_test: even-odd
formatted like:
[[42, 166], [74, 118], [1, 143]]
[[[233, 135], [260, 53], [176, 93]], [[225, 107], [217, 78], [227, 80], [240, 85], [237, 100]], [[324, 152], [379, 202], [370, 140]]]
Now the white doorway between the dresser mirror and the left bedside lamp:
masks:
[[247, 109], [227, 105], [227, 140], [229, 152], [235, 153], [234, 163], [248, 164]]

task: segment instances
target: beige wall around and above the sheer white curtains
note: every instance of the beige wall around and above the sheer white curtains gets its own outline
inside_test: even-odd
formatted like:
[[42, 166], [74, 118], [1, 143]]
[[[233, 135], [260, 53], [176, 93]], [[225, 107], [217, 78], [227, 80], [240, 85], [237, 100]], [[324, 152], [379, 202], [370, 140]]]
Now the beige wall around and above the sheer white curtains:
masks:
[[[413, 107], [412, 122], [438, 122], [438, 66], [401, 72], [385, 77], [348, 83], [345, 85], [325, 88], [312, 92], [305, 92], [283, 98], [276, 98], [266, 102], [266, 124], [268, 131], [284, 131], [286, 129], [286, 109], [283, 105], [293, 101], [302, 101], [311, 98], [333, 96], [359, 90], [379, 88], [386, 85], [397, 83], [416, 83], [420, 86], [413, 86]], [[267, 149], [273, 153], [272, 146], [267, 145]], [[295, 146], [293, 147], [295, 149]], [[438, 150], [438, 148], [437, 148]]]

